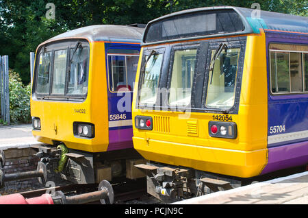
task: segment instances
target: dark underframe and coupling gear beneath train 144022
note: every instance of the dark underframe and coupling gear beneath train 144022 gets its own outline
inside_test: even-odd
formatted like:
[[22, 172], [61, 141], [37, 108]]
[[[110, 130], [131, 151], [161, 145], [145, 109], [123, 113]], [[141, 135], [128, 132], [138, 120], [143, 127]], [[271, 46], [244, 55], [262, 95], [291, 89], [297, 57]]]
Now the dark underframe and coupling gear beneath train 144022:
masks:
[[133, 167], [145, 163], [145, 160], [132, 148], [91, 153], [67, 148], [64, 152], [59, 146], [47, 144], [31, 147], [36, 149], [36, 156], [47, 166], [47, 171], [60, 173], [64, 180], [76, 184], [93, 184], [121, 177], [137, 179], [145, 176], [142, 171]]

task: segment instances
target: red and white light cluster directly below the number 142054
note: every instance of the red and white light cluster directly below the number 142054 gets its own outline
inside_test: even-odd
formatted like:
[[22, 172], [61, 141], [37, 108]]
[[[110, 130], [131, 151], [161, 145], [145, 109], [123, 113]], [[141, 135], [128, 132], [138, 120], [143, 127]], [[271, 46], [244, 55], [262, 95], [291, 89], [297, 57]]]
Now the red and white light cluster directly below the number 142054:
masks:
[[209, 136], [218, 138], [236, 138], [238, 129], [236, 123], [209, 121]]

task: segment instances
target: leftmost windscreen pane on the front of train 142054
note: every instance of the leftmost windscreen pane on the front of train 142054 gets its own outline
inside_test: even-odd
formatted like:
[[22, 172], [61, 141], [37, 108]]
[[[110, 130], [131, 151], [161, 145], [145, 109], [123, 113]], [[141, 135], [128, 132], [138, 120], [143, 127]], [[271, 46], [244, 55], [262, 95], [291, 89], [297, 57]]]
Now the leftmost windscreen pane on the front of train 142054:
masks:
[[154, 52], [144, 56], [146, 63], [144, 70], [142, 71], [141, 69], [142, 75], [140, 81], [139, 104], [155, 104], [158, 92], [159, 75], [162, 68], [162, 59], [162, 53]]

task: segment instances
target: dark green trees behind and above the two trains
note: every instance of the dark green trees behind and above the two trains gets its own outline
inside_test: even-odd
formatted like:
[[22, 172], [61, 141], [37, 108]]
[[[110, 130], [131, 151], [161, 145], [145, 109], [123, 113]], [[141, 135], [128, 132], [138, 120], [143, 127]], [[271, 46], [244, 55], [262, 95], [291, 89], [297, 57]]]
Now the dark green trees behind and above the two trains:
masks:
[[[55, 21], [45, 18], [47, 3], [55, 4]], [[308, 0], [0, 0], [0, 55], [10, 56], [10, 68], [30, 82], [29, 53], [57, 34], [96, 24], [148, 23], [172, 12], [214, 5], [251, 8], [308, 16]]]

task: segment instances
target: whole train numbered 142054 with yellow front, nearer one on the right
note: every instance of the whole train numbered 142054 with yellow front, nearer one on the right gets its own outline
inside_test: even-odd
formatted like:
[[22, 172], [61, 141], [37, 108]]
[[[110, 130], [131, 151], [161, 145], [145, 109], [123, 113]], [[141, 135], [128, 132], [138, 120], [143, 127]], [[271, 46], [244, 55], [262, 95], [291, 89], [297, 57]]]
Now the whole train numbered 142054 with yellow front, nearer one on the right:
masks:
[[181, 199], [307, 164], [307, 33], [307, 17], [228, 6], [148, 23], [133, 145], [149, 193]]

